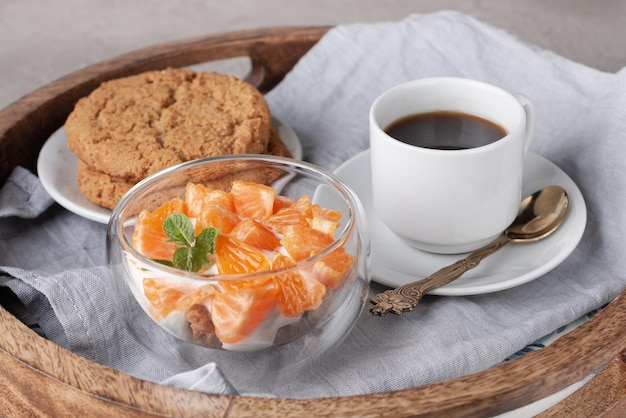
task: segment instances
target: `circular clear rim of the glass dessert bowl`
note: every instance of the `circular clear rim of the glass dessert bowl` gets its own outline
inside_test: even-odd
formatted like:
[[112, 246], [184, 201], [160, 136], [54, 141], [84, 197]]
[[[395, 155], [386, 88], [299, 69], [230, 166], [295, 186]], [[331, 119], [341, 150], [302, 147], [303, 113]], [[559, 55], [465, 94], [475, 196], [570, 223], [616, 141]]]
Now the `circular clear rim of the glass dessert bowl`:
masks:
[[[340, 232], [335, 236], [335, 239], [332, 244], [325, 247], [323, 250], [318, 253], [307, 257], [305, 259], [297, 261], [294, 265], [288, 267], [282, 267], [278, 269], [270, 269], [263, 270], [254, 273], [239, 273], [239, 274], [208, 274], [208, 273], [197, 273], [190, 272], [186, 270], [177, 269], [175, 267], [170, 267], [159, 262], [153, 261], [149, 258], [146, 258], [139, 251], [137, 251], [131, 242], [127, 240], [126, 234], [124, 234], [124, 227], [127, 225], [127, 222], [121, 222], [121, 216], [123, 212], [128, 208], [129, 204], [132, 203], [133, 199], [140, 193], [144, 191], [146, 187], [153, 185], [163, 178], [169, 176], [173, 172], [185, 171], [195, 166], [200, 166], [204, 164], [212, 164], [218, 162], [225, 161], [259, 161], [263, 163], [271, 164], [271, 166], [275, 168], [286, 168], [289, 167], [291, 169], [299, 169], [304, 170], [305, 172], [313, 173], [316, 176], [320, 177], [321, 184], [327, 184], [329, 186], [334, 187], [339, 193], [343, 196], [344, 199], [348, 202], [348, 217], [345, 225], [342, 225]], [[143, 180], [138, 182], [135, 186], [133, 186], [117, 203], [113, 212], [111, 214], [111, 219], [108, 225], [109, 231], [109, 239], [111, 239], [112, 232], [116, 232], [117, 240], [121, 246], [123, 251], [129, 253], [136, 261], [139, 261], [140, 264], [149, 268], [150, 270], [158, 270], [161, 274], [165, 274], [166, 276], [175, 277], [176, 279], [184, 279], [196, 281], [200, 280], [206, 283], [208, 280], [214, 281], [234, 281], [234, 280], [255, 280], [262, 277], [265, 277], [274, 273], [287, 273], [292, 270], [302, 269], [304, 266], [313, 264], [329, 253], [333, 252], [347, 241], [348, 237], [354, 230], [357, 225], [357, 208], [359, 207], [358, 198], [354, 194], [354, 192], [338, 177], [336, 177], [330, 171], [317, 166], [315, 164], [311, 164], [305, 161], [295, 160], [293, 158], [288, 157], [279, 157], [279, 156], [268, 156], [268, 155], [258, 155], [258, 154], [235, 154], [235, 155], [222, 155], [222, 156], [214, 156], [201, 158], [193, 161], [184, 162], [172, 167], [168, 167], [164, 170], [161, 170]], [[136, 219], [136, 216], [132, 217]]]

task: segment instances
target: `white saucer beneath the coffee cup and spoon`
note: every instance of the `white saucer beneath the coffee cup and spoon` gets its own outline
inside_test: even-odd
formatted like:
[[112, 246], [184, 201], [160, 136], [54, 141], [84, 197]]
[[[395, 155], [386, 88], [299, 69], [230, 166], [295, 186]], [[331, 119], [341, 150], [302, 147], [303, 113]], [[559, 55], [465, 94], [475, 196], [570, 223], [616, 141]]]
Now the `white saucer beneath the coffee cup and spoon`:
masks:
[[[463, 258], [462, 254], [438, 255], [410, 247], [376, 216], [369, 150], [343, 163], [335, 174], [356, 192], [365, 208], [372, 238], [372, 280], [391, 287], [402, 286]], [[461, 296], [509, 289], [540, 277], [565, 260], [585, 231], [585, 201], [576, 184], [559, 167], [529, 153], [524, 161], [523, 195], [549, 185], [563, 187], [570, 198], [565, 222], [553, 235], [532, 244], [509, 244], [456, 281], [430, 293]]]

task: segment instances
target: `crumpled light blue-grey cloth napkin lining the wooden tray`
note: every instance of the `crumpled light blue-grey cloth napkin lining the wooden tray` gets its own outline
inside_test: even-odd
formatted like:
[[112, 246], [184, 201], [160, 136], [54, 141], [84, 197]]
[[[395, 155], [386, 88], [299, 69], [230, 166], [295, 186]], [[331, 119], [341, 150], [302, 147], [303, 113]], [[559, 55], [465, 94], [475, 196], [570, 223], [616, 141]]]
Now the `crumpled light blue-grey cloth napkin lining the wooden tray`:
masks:
[[[335, 169], [368, 147], [372, 101], [396, 84], [427, 76], [483, 80], [533, 101], [532, 150], [560, 166], [585, 197], [588, 224], [581, 243], [556, 269], [523, 286], [478, 296], [428, 296], [419, 310], [401, 316], [364, 311], [344, 342], [314, 367], [268, 384], [260, 394], [353, 395], [475, 373], [610, 302], [626, 287], [621, 256], [626, 72], [600, 72], [471, 16], [439, 12], [332, 29], [267, 99], [272, 113], [297, 132], [304, 159]], [[0, 219], [0, 265], [7, 266], [0, 267], [0, 281], [32, 308], [48, 338], [99, 363], [171, 386], [212, 393], [255, 390], [245, 375], [271, 362], [267, 355], [233, 362], [228, 354], [207, 354], [178, 342], [155, 325], [153, 346], [178, 356], [183, 367], [175, 369], [134, 341], [107, 294], [106, 227], [57, 205], [33, 208], [24, 216], [33, 219], [16, 217], [20, 205], [36, 200], [30, 194], [40, 192], [36, 179], [23, 174], [0, 191], [5, 217]], [[373, 284], [371, 293], [383, 290]], [[42, 306], [49, 306], [48, 312]]]

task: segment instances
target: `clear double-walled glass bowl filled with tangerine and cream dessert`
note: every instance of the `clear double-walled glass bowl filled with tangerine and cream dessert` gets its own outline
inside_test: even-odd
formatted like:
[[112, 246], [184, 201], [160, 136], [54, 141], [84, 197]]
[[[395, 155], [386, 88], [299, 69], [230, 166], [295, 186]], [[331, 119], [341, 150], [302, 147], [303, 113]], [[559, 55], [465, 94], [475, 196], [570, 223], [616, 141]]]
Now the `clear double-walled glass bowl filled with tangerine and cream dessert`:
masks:
[[[230, 199], [223, 204], [232, 205], [229, 211], [212, 211], [211, 191]], [[174, 212], [191, 222], [187, 243], [165, 242], [173, 236], [165, 235], [162, 221]], [[237, 228], [244, 220], [271, 231], [273, 246], [250, 244], [255, 234]], [[176, 228], [182, 222], [170, 221]], [[214, 248], [206, 252], [200, 231], [210, 226], [219, 231], [209, 234]], [[175, 267], [174, 257], [159, 252], [183, 247], [187, 261], [193, 247], [205, 251], [200, 270]], [[320, 167], [264, 155], [196, 160], [138, 183], [113, 210], [107, 263], [126, 328], [164, 364], [184, 364], [183, 369], [203, 359], [236, 362], [236, 353], [259, 352], [271, 358], [268, 368], [305, 364], [347, 336], [370, 284], [369, 232], [357, 196]], [[193, 355], [185, 354], [189, 344], [197, 347]]]

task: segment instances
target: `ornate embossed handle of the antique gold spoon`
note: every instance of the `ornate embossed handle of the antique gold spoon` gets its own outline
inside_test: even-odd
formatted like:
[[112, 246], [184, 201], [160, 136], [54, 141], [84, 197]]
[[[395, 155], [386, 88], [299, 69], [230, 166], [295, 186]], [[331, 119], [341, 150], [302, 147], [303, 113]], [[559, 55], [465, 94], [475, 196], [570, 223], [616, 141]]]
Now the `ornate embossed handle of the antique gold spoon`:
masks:
[[374, 304], [370, 311], [374, 315], [385, 315], [388, 312], [401, 314], [415, 308], [422, 297], [429, 291], [461, 277], [466, 271], [473, 269], [486, 257], [504, 247], [511, 240], [503, 235], [498, 240], [488, 244], [462, 260], [454, 264], [443, 267], [435, 273], [417, 282], [411, 282], [395, 289], [385, 290], [370, 299]]

